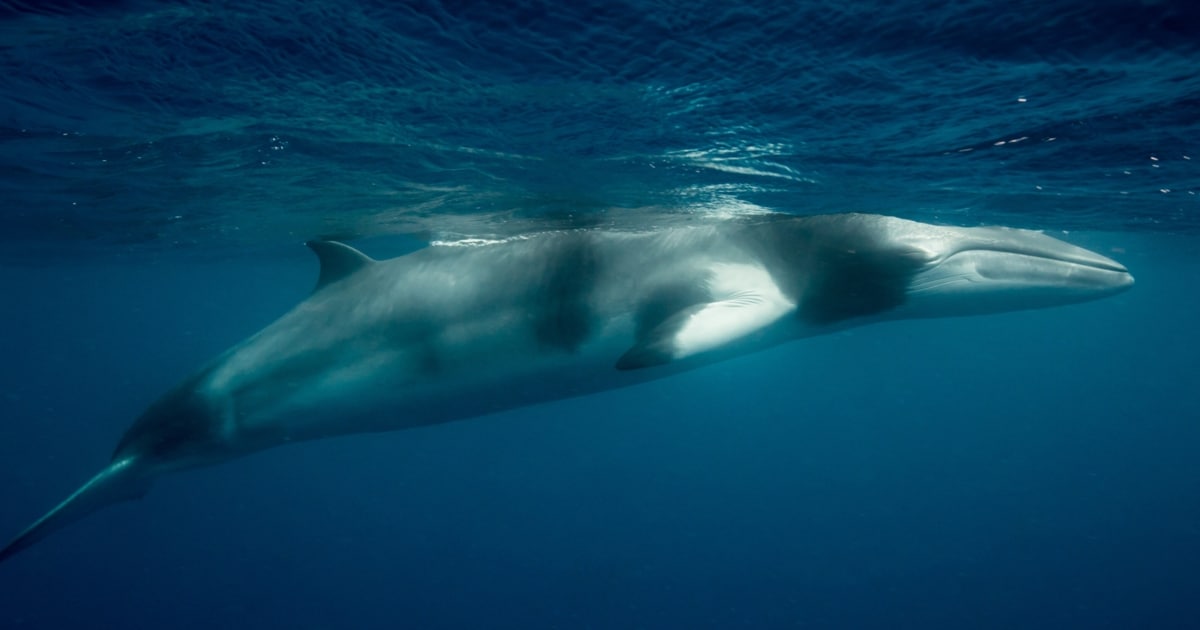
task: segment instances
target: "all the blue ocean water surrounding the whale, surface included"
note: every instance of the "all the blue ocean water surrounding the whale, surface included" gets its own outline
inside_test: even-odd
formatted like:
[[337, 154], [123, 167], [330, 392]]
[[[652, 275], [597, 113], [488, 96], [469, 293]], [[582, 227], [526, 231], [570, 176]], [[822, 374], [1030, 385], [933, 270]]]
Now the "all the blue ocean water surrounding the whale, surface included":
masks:
[[1198, 7], [0, 2], [0, 536], [314, 236], [859, 210], [1138, 277], [163, 479], [0, 628], [1195, 628]]

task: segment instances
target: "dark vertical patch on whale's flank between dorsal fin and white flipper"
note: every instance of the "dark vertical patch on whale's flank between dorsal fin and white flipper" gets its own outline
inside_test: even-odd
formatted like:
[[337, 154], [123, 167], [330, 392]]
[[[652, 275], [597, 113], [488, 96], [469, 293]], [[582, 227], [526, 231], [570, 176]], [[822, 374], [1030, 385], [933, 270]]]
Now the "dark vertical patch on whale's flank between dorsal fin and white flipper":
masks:
[[546, 348], [575, 352], [592, 332], [592, 290], [596, 251], [583, 234], [572, 234], [546, 258], [534, 316], [534, 336]]

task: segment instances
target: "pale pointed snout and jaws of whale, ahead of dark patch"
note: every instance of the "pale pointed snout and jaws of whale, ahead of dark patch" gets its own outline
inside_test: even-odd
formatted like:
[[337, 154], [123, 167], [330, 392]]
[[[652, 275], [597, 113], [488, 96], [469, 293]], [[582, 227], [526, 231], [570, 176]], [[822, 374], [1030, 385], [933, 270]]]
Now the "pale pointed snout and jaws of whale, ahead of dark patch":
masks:
[[1096, 300], [1133, 286], [1111, 258], [1030, 229], [904, 222], [916, 268], [896, 314], [946, 317]]

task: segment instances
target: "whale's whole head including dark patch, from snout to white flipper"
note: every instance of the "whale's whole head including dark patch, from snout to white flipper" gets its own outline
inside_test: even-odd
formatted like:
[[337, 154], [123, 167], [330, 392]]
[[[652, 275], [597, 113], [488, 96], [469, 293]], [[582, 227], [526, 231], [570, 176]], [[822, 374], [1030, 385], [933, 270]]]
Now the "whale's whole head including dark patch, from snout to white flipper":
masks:
[[1121, 293], [1129, 271], [1037, 230], [863, 215], [791, 217], [752, 232], [815, 328], [1045, 308]]

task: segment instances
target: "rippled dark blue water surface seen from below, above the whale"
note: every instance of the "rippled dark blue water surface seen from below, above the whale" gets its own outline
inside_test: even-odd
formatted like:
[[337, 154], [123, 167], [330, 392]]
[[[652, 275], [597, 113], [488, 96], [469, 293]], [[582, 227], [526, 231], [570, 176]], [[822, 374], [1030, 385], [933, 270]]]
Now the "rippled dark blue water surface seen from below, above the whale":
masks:
[[1194, 230], [1200, 5], [0, 2], [0, 257], [766, 210]]

